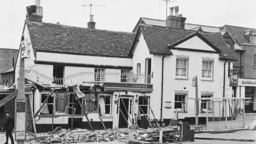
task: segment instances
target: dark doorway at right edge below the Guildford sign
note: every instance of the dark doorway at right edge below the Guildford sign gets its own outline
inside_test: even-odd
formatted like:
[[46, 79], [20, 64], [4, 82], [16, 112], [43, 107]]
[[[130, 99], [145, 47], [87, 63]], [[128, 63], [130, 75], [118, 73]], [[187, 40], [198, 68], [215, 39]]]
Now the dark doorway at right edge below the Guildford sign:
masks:
[[253, 87], [245, 87], [245, 98], [251, 98], [250, 100], [245, 100], [245, 113], [253, 112]]

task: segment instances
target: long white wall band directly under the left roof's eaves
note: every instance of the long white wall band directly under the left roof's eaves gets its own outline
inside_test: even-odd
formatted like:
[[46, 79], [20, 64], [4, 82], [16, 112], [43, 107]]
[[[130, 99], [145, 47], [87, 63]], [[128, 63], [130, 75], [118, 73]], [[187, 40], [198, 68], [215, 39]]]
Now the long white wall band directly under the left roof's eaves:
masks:
[[36, 60], [65, 62], [65, 63], [86, 63], [90, 65], [110, 65], [110, 66], [131, 66], [130, 58], [93, 57], [88, 55], [61, 54], [37, 52]]

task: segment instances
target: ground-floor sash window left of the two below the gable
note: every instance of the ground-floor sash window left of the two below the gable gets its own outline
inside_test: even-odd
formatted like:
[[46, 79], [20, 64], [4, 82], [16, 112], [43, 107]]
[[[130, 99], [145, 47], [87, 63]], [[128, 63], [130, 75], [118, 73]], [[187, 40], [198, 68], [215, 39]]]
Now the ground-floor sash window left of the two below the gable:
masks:
[[178, 111], [186, 111], [186, 94], [175, 94], [174, 109]]

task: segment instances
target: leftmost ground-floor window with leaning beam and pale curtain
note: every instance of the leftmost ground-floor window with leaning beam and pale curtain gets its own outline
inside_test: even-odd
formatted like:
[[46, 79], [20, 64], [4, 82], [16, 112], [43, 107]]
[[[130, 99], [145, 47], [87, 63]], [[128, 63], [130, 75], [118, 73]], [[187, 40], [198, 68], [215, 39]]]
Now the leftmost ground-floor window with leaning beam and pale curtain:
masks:
[[[46, 100], [48, 97], [47, 93], [42, 93], [41, 94], [41, 106], [43, 105], [43, 102]], [[53, 107], [53, 102], [54, 102], [54, 97], [51, 97], [46, 101], [45, 105], [40, 111], [40, 114], [52, 114], [52, 107]]]

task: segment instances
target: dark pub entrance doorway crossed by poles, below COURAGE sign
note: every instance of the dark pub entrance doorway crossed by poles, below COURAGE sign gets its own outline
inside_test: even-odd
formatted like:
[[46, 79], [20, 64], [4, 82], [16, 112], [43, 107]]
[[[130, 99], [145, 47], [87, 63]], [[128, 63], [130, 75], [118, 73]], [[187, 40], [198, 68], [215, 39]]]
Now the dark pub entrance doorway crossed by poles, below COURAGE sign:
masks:
[[[124, 101], [124, 102], [123, 102]], [[128, 114], [125, 110], [125, 107], [126, 109], [129, 107], [129, 99], [124, 99], [123, 98], [123, 101], [119, 99], [119, 110], [121, 110], [123, 112], [123, 114], [121, 113], [121, 111], [119, 111], [119, 124], [118, 124], [118, 127], [119, 128], [126, 128], [128, 126], [127, 122], [125, 121], [125, 118], [126, 120], [128, 121]], [[124, 107], [125, 106], [125, 107]]]

